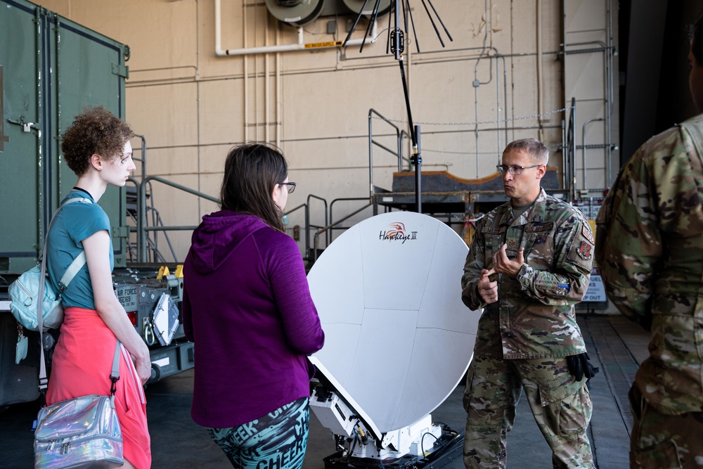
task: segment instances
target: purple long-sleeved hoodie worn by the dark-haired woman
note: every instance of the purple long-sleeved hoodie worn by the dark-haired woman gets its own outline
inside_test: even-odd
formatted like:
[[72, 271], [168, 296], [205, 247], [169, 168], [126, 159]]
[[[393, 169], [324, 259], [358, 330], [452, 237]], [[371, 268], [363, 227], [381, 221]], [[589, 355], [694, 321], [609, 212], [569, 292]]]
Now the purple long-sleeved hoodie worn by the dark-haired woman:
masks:
[[183, 330], [195, 342], [191, 416], [228, 428], [309, 397], [325, 342], [297, 244], [258, 217], [202, 217], [183, 264]]

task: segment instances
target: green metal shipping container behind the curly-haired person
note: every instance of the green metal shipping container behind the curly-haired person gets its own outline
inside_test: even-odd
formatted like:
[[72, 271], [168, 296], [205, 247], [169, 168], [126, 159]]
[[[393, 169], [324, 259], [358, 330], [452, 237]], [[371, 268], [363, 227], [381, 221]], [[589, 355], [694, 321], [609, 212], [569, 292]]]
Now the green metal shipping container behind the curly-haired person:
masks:
[[[86, 105], [124, 118], [129, 47], [24, 0], [0, 0], [0, 275], [37, 263], [51, 214], [75, 184], [61, 134]], [[125, 189], [100, 199], [125, 265]]]

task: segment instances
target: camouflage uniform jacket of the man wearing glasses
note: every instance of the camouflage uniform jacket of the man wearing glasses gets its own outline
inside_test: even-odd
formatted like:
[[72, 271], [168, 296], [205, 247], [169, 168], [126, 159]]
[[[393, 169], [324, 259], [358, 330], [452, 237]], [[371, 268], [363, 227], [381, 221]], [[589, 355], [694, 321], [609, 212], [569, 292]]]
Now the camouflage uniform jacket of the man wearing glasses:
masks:
[[[517, 278], [498, 277], [498, 302], [487, 305], [477, 288], [482, 269], [507, 244], [508, 257], [524, 248]], [[593, 233], [580, 210], [541, 191], [519, 218], [506, 203], [476, 227], [461, 278], [467, 307], [484, 312], [475, 353], [505, 359], [560, 357], [586, 352], [574, 304], [588, 289]], [[491, 281], [494, 280], [491, 276]]]

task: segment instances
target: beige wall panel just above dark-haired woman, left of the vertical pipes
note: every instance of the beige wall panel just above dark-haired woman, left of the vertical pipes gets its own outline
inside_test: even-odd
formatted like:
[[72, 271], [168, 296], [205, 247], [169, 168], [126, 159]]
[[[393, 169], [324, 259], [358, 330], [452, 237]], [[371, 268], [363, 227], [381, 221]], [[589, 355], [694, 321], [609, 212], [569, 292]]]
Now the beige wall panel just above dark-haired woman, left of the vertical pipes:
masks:
[[220, 145], [244, 140], [242, 79], [200, 83], [200, 143]]

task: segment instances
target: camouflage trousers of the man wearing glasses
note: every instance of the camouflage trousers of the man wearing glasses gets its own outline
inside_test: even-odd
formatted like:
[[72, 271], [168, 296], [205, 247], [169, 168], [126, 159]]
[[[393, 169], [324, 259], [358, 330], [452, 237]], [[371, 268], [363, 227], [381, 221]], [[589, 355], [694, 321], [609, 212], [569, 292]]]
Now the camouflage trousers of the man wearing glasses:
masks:
[[586, 430], [593, 404], [586, 380], [574, 380], [564, 358], [504, 360], [474, 356], [466, 378], [464, 465], [503, 469], [507, 434], [524, 389], [555, 469], [593, 468]]

